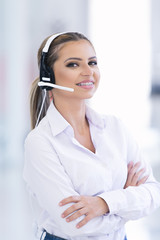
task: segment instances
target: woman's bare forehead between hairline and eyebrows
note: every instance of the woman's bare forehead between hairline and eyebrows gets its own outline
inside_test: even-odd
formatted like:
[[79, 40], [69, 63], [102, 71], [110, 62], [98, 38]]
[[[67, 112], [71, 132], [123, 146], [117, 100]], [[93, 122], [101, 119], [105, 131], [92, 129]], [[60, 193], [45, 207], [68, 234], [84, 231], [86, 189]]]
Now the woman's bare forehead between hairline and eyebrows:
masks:
[[93, 46], [87, 40], [64, 43], [58, 52], [59, 58], [95, 56]]

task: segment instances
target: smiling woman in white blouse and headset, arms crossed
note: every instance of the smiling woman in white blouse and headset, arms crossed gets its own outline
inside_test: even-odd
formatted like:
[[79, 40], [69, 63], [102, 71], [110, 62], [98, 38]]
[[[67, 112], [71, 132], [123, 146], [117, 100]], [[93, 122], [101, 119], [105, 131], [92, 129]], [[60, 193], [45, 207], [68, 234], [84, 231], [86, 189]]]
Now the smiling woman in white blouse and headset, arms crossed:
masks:
[[124, 240], [128, 220], [159, 207], [160, 184], [121, 121], [85, 102], [100, 80], [94, 47], [80, 33], [60, 33], [42, 43], [38, 63], [24, 166], [36, 235]]

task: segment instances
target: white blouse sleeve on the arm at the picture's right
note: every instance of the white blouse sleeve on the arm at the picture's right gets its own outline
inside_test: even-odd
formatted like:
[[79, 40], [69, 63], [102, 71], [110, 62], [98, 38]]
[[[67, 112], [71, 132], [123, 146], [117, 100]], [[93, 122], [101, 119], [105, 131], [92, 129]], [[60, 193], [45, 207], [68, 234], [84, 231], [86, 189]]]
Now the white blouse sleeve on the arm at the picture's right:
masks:
[[116, 189], [100, 196], [107, 202], [110, 214], [116, 214], [128, 220], [134, 220], [152, 213], [160, 206], [160, 183], [155, 180], [152, 169], [142, 156], [142, 153], [128, 130], [122, 125], [127, 146], [127, 163], [140, 161], [149, 175], [147, 181], [140, 186], [130, 186], [126, 189]]

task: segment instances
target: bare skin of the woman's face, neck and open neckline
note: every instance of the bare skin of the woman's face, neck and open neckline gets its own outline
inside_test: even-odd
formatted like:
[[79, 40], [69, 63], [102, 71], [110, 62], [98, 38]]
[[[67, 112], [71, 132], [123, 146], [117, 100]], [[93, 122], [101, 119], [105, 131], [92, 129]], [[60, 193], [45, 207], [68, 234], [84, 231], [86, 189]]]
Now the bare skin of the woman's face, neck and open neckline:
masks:
[[[74, 92], [53, 89], [54, 104], [73, 127], [75, 138], [95, 152], [85, 117], [85, 99], [94, 95], [99, 84], [96, 53], [88, 41], [80, 40], [65, 43], [58, 56], [53, 66], [56, 84], [74, 88]], [[78, 85], [84, 81], [91, 85]]]

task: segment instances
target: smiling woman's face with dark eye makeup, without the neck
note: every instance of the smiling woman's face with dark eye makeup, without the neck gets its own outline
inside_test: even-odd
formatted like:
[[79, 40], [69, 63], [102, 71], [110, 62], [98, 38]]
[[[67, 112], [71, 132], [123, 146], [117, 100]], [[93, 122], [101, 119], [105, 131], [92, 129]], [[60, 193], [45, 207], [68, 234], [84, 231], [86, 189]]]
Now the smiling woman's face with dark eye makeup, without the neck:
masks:
[[61, 47], [58, 56], [53, 66], [56, 84], [74, 88], [74, 92], [53, 89], [54, 96], [92, 97], [100, 78], [92, 45], [86, 40], [68, 42]]

